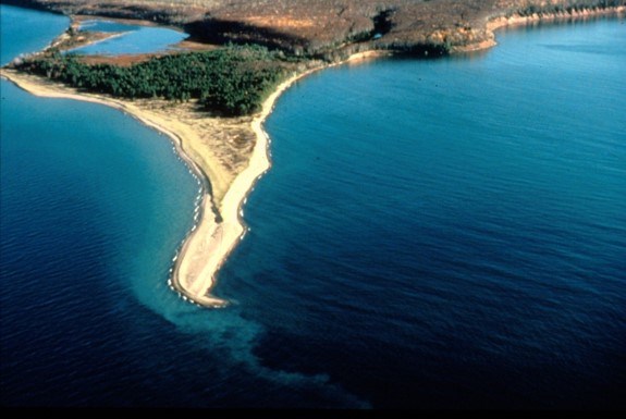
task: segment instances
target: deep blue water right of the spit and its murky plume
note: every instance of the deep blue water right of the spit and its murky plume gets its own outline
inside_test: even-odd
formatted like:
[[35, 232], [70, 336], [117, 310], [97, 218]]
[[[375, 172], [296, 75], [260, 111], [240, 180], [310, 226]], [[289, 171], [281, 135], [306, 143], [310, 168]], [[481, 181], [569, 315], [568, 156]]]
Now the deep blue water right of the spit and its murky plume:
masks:
[[501, 38], [280, 99], [220, 288], [269, 365], [377, 407], [625, 406], [626, 26]]

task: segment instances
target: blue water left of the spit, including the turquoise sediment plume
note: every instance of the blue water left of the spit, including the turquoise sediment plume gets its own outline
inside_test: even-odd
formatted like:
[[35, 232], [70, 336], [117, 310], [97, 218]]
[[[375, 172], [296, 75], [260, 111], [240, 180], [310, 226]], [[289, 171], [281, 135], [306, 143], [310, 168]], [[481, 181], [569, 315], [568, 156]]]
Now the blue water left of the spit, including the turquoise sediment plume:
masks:
[[[1, 12], [2, 62], [22, 41], [4, 22], [32, 22], [29, 50], [69, 24]], [[198, 198], [168, 139], [106, 107], [0, 86], [3, 406], [366, 405], [321, 373], [266, 368], [261, 323], [167, 286]]]

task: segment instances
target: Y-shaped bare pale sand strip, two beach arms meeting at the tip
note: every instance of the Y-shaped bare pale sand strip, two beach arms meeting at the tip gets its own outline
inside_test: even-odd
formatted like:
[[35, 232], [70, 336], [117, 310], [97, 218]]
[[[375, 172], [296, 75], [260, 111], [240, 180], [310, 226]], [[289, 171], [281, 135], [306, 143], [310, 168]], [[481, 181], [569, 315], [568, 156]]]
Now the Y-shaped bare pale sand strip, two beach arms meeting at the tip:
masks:
[[[73, 88], [51, 83], [41, 77], [4, 69], [1, 70], [0, 75], [39, 97], [83, 100], [122, 110], [144, 124], [167, 134], [173, 140], [179, 155], [194, 169], [198, 177], [205, 183], [205, 187], [202, 187], [198, 223], [193, 227], [175, 257], [171, 283], [185, 299], [207, 307], [223, 307], [226, 301], [210, 294], [214, 285], [214, 274], [245, 233], [245, 226], [240, 214], [242, 202], [255, 182], [270, 168], [267, 152], [269, 141], [261, 127], [262, 122], [271, 113], [277, 98], [292, 83], [319, 69], [294, 75], [279, 85], [277, 90], [265, 101], [262, 111], [254, 118], [248, 126], [256, 136], [249, 163], [230, 185], [228, 176], [216, 170], [220, 162], [206, 158], [206, 153], [199, 156], [198, 152], [188, 152], [189, 149], [195, 151], [204, 146], [198, 144], [197, 136], [194, 135], [194, 127], [176, 126], [177, 124], [172, 124], [172, 121], [142, 109], [131, 101], [77, 93]], [[218, 202], [213, 204], [208, 194], [209, 182], [213, 190], [217, 187], [221, 193], [220, 195], [224, 194]], [[219, 209], [219, 214], [216, 213], [213, 206]], [[221, 217], [220, 222], [218, 222], [218, 215]]]

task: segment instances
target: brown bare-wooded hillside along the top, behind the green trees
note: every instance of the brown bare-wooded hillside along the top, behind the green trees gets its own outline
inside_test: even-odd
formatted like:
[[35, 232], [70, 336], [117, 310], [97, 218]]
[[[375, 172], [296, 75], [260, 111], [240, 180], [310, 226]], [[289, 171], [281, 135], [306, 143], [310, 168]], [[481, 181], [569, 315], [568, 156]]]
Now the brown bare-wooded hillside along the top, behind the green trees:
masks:
[[449, 52], [493, 38], [489, 20], [624, 7], [626, 0], [9, 0], [66, 14], [142, 19], [195, 39], [333, 58], [365, 49]]

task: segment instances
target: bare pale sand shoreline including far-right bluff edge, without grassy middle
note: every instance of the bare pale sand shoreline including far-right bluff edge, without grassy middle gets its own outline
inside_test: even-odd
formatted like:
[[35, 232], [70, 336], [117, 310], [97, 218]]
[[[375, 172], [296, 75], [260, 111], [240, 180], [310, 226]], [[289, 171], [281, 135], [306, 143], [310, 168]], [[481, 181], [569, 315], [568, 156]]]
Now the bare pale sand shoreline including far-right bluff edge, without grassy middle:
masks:
[[[596, 11], [596, 13], [585, 11], [578, 15], [567, 14], [563, 16], [547, 14], [526, 17], [513, 16], [510, 19], [496, 17], [490, 20], [487, 23], [487, 27], [493, 32], [502, 27], [541, 21], [554, 22], [556, 20], [572, 20], [592, 15], [621, 14], [624, 13], [625, 9], [624, 7], [618, 7], [610, 11], [600, 10]], [[493, 40], [489, 45], [480, 44], [467, 51], [484, 49], [495, 45], [496, 42]], [[165, 119], [162, 114], [143, 109], [132, 101], [77, 91], [41, 77], [25, 75], [5, 69], [0, 70], [0, 75], [36, 96], [83, 100], [112, 107], [170, 137], [176, 153], [185, 161], [200, 182], [199, 193], [201, 194], [201, 200], [194, 214], [197, 222], [187, 233], [183, 245], [173, 258], [173, 267], [168, 284], [179, 292], [185, 300], [191, 300], [205, 307], [217, 308], [226, 306], [228, 301], [211, 294], [216, 284], [216, 275], [247, 231], [243, 220], [242, 207], [256, 182], [271, 168], [268, 153], [270, 138], [265, 132], [262, 124], [271, 114], [277, 99], [295, 82], [314, 72], [363, 59], [392, 54], [392, 51], [386, 50], [355, 53], [344, 61], [319, 65], [299, 74], [294, 74], [281, 83], [266, 99], [262, 110], [254, 116], [251, 122], [249, 124], [247, 122], [241, 123], [242, 127], [245, 125], [246, 130], [250, 130], [254, 133], [256, 143], [246, 168], [238, 172], [234, 178], [230, 178], [228, 174], [220, 173], [217, 169], [219, 158], [214, 153], [211, 155], [211, 150], [205, 150], [208, 146], [197, 135], [197, 131], [201, 127], [187, 126], [183, 121], [175, 121], [175, 118], [174, 120], [172, 118]], [[210, 156], [202, 155], [202, 150]]]

